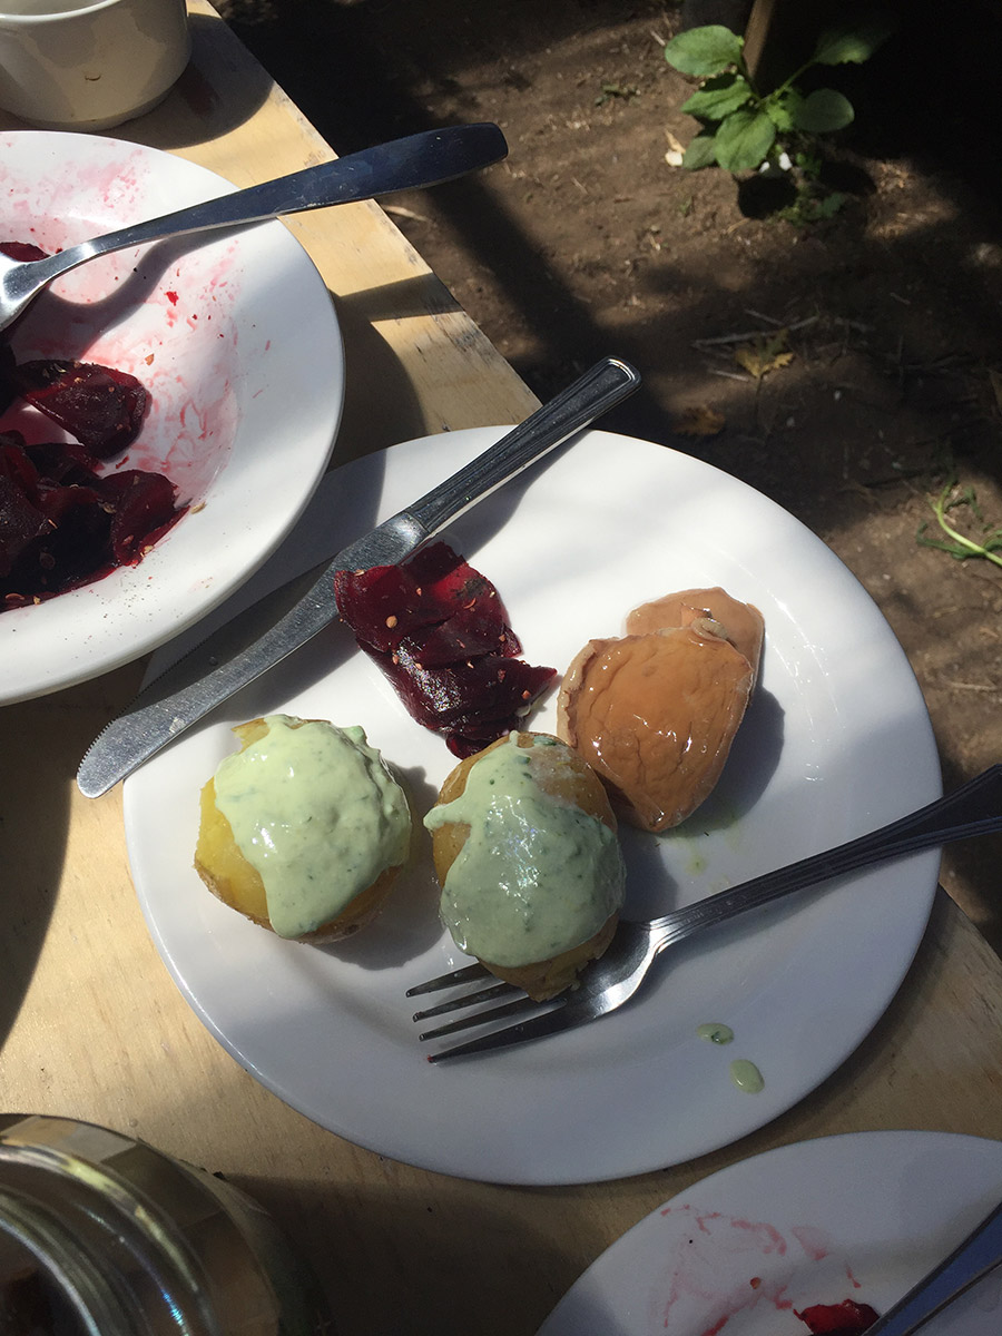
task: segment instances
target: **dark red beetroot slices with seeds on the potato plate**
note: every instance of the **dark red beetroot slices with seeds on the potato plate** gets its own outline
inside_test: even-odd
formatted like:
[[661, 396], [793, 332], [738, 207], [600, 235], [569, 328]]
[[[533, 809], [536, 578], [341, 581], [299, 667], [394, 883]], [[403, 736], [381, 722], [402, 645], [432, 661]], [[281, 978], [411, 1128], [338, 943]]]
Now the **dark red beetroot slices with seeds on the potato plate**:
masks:
[[445, 542], [334, 576], [338, 611], [407, 712], [472, 756], [518, 728], [556, 676], [522, 659], [494, 585]]

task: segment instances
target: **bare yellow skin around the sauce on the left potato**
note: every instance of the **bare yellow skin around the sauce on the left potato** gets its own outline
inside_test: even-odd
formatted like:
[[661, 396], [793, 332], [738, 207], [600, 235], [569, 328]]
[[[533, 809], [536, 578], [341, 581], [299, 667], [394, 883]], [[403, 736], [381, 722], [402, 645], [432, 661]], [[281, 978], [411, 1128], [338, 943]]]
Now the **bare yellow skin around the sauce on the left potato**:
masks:
[[[310, 720], [303, 720], [309, 723]], [[263, 737], [267, 724], [263, 719], [253, 719], [239, 724], [234, 732], [240, 739], [240, 751]], [[230, 908], [243, 914], [269, 933], [274, 931], [269, 919], [265, 883], [258, 870], [240, 852], [234, 839], [232, 827], [215, 806], [215, 782], [210, 779], [202, 788], [200, 822], [198, 844], [195, 846], [195, 871], [208, 890]], [[361, 891], [330, 922], [321, 923], [313, 933], [303, 933], [297, 942], [310, 942], [322, 946], [341, 942], [363, 929], [378, 915], [399, 867], [387, 867], [371, 886]]]

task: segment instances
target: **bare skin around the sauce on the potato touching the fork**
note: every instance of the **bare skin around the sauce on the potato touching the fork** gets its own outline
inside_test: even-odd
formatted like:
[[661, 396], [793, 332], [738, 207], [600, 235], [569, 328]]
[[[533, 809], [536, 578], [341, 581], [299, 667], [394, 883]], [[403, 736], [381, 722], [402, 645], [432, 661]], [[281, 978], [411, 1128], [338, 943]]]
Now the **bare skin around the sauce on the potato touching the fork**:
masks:
[[[540, 787], [554, 798], [562, 798], [566, 802], [574, 803], [581, 811], [597, 818], [611, 831], [615, 831], [616, 815], [605, 788], [592, 767], [576, 751], [572, 751], [566, 743], [553, 737], [550, 733], [520, 732], [517, 745], [530, 748], [534, 745], [536, 737], [549, 737], [557, 743], [556, 747], [541, 748], [537, 754], [542, 762], [536, 770]], [[436, 807], [442, 803], [450, 803], [464, 792], [466, 788], [466, 776], [481, 756], [485, 756], [496, 747], [506, 745], [509, 745], [508, 737], [498, 737], [489, 747], [460, 762], [446, 776]], [[432, 858], [440, 886], [445, 884], [449, 868], [466, 843], [469, 832], [470, 828], [465, 822], [446, 822], [432, 832]], [[617, 923], [619, 912], [611, 914], [595, 937], [546, 961], [521, 966], [492, 965], [489, 961], [481, 961], [481, 965], [497, 978], [524, 989], [530, 998], [542, 1002], [573, 986], [578, 971], [589, 961], [599, 959], [612, 941]]]

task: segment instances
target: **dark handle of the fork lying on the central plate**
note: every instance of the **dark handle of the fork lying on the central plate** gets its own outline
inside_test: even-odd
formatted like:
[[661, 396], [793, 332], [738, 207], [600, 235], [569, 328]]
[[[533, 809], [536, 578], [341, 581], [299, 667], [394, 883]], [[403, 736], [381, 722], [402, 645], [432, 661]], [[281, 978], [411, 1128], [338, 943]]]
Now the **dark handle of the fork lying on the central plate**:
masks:
[[766, 872], [727, 891], [719, 891], [673, 914], [655, 919], [651, 933], [656, 951], [681, 942], [693, 933], [725, 919], [779, 900], [784, 895], [816, 886], [832, 876], [842, 876], [872, 863], [903, 858], [923, 848], [949, 844], [971, 835], [987, 835], [1002, 828], [1002, 766], [990, 766], [983, 774], [955, 788], [945, 798], [880, 826], [868, 835], [838, 844], [835, 848], [791, 863], [775, 872]]

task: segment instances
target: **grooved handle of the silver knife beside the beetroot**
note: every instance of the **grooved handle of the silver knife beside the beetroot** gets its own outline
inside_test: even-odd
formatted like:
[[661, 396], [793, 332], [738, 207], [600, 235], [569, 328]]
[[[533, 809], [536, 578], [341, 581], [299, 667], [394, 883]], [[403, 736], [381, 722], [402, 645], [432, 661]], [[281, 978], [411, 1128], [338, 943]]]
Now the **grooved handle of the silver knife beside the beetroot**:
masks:
[[603, 358], [561, 394], [520, 422], [504, 440], [478, 454], [464, 469], [426, 492], [407, 514], [430, 537], [472, 505], [490, 496], [509, 478], [584, 430], [640, 385], [640, 374], [617, 357]]

